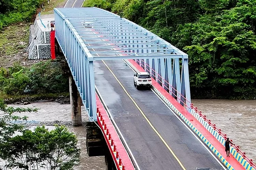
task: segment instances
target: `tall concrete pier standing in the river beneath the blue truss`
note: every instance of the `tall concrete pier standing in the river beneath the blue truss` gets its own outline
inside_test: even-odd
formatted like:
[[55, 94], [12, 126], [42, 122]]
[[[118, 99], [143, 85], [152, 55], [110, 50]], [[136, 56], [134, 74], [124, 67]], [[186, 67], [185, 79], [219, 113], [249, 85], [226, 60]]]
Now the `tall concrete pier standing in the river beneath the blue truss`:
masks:
[[69, 92], [70, 92], [72, 126], [81, 126], [82, 125], [81, 98], [72, 76], [69, 76]]

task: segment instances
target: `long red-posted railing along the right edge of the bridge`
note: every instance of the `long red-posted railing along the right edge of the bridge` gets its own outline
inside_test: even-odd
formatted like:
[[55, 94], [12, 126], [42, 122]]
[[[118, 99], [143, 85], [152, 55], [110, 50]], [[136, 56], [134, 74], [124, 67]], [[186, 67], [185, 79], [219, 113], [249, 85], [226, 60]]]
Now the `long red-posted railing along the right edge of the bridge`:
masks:
[[[218, 129], [216, 127], [216, 124], [213, 124], [211, 120], [207, 119], [205, 115], [202, 114], [201, 111], [198, 110], [197, 107], [193, 105], [193, 103], [190, 103], [180, 92], [178, 92], [169, 82], [167, 82], [161, 75], [159, 75], [153, 68], [151, 68], [147, 63], [142, 60], [136, 60], [136, 62], [139, 62], [139, 65], [142, 67], [145, 71], [150, 72], [151, 77], [153, 75], [153, 79], [158, 82], [161, 82], [162, 86], [169, 91], [169, 93], [176, 99], [180, 104], [182, 104], [186, 108], [194, 109], [194, 111], [203, 118], [205, 122], [207, 122], [219, 135], [221, 135], [225, 140], [227, 140], [227, 135], [224, 134], [221, 129]], [[154, 74], [153, 74], [154, 73]], [[179, 97], [180, 96], [180, 97]], [[187, 105], [187, 102], [189, 105]], [[232, 142], [232, 140], [231, 140]], [[234, 143], [231, 143], [231, 146], [239, 153], [252, 167], [256, 169], [256, 165], [253, 162], [253, 159], [249, 159], [246, 155], [245, 152], [242, 152], [239, 148], [239, 146], [235, 145]]]

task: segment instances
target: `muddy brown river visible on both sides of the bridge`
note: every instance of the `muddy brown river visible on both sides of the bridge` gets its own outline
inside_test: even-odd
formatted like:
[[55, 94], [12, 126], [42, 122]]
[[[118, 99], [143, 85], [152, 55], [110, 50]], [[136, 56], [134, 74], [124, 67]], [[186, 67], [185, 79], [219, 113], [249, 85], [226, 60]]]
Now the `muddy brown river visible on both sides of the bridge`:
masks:
[[[193, 100], [195, 106], [207, 115], [218, 128], [222, 129], [236, 145], [239, 145], [243, 152], [250, 159], [256, 160], [256, 100]], [[19, 116], [28, 116], [29, 120], [35, 121], [63, 121], [69, 122], [70, 105], [55, 102], [38, 102], [29, 105], [10, 105], [15, 107], [39, 108], [38, 113], [23, 113]], [[82, 107], [82, 119], [87, 121], [87, 115]], [[53, 126], [47, 126], [49, 129]], [[104, 157], [88, 157], [86, 151], [85, 128], [68, 127], [79, 139], [79, 147], [82, 150], [81, 164], [75, 170], [103, 170], [105, 169]]]

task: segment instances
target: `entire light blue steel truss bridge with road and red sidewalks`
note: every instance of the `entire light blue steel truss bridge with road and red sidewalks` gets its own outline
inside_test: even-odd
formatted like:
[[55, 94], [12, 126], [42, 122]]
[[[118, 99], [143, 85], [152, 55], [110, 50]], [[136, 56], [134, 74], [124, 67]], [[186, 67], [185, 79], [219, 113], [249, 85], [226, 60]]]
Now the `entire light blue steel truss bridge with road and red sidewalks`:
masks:
[[[226, 136], [191, 104], [186, 53], [139, 25], [99, 8], [55, 8], [54, 17], [56, 39], [84, 107], [91, 121], [101, 126], [118, 170], [133, 169], [125, 165], [129, 160], [138, 170], [244, 169], [241, 164], [248, 164], [221, 156], [225, 154], [221, 141]], [[134, 72], [142, 70], [154, 79], [154, 90], [133, 86]], [[106, 109], [102, 107], [101, 113], [99, 98]], [[108, 114], [104, 117], [105, 112]], [[111, 128], [119, 137], [111, 134]], [[122, 159], [125, 153], [118, 152], [123, 145], [129, 159]]]

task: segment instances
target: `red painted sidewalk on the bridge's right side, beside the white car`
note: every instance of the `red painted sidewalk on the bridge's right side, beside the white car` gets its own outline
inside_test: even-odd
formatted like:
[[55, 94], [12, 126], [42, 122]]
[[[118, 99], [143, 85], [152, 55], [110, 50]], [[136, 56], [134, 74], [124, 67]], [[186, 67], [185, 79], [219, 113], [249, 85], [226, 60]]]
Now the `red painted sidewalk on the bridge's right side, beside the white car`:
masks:
[[[139, 71], [145, 71], [134, 60], [128, 60]], [[179, 104], [165, 89], [162, 88], [154, 79], [152, 79], [153, 86], [158, 89], [163, 96], [165, 96], [183, 116], [185, 116], [190, 123], [192, 123], [199, 132], [218, 150], [218, 152], [227, 160], [227, 162], [236, 170], [245, 169], [236, 158], [230, 154], [230, 157], [226, 156], [225, 147], [219, 142], [204, 126], [191, 115], [181, 104]]]

